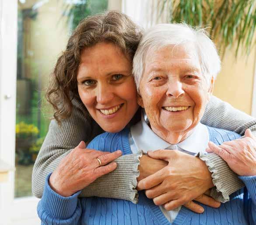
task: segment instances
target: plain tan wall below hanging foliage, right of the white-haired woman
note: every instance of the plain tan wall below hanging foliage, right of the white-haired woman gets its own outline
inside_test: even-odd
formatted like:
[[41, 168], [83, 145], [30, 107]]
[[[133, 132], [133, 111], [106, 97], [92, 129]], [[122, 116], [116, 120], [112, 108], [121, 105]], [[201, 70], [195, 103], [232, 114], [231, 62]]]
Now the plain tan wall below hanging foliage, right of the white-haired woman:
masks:
[[252, 108], [255, 52], [255, 47], [249, 56], [240, 52], [236, 59], [235, 48], [226, 50], [213, 91], [218, 98], [248, 114]]

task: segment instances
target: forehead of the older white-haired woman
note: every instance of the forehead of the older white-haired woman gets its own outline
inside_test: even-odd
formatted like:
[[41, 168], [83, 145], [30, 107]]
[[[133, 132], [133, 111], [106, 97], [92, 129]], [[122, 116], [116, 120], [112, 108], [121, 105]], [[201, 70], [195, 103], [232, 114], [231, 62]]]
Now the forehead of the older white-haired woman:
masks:
[[173, 44], [148, 51], [145, 60], [145, 72], [171, 68], [200, 71], [196, 46], [193, 43]]

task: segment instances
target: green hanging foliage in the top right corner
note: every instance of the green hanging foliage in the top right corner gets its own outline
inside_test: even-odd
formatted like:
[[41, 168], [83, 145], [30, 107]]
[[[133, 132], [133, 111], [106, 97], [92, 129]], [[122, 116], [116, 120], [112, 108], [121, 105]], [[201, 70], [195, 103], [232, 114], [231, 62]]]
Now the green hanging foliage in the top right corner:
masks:
[[207, 27], [223, 53], [234, 45], [236, 54], [240, 48], [250, 53], [255, 44], [255, 0], [162, 0], [160, 13], [170, 1], [171, 22]]

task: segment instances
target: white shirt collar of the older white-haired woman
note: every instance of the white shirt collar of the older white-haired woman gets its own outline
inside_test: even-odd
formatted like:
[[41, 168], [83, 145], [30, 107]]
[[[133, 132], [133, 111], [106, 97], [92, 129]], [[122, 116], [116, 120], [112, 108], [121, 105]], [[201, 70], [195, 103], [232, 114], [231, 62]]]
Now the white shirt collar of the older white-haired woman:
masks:
[[[146, 153], [148, 150], [154, 151], [172, 146], [170, 143], [157, 136], [145, 120], [147, 120], [147, 118], [145, 114], [142, 113], [141, 121], [131, 126], [131, 136], [138, 150], [142, 150]], [[176, 145], [191, 153], [206, 153], [205, 149], [208, 146], [208, 141], [209, 135], [207, 127], [202, 123], [198, 123], [193, 133]]]

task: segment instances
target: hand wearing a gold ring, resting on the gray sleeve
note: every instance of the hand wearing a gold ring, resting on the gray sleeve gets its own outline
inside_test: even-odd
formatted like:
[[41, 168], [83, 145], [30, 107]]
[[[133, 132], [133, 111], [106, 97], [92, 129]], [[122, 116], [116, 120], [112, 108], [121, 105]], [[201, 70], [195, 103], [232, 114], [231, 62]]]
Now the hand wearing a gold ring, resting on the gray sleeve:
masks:
[[[83, 141], [74, 148], [49, 178], [49, 185], [53, 191], [63, 197], [71, 196], [80, 191], [98, 177], [113, 171], [117, 164], [111, 161], [121, 156], [120, 150], [113, 153], [85, 149]], [[102, 166], [100, 167], [100, 159]]]

